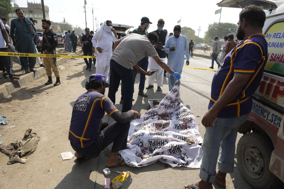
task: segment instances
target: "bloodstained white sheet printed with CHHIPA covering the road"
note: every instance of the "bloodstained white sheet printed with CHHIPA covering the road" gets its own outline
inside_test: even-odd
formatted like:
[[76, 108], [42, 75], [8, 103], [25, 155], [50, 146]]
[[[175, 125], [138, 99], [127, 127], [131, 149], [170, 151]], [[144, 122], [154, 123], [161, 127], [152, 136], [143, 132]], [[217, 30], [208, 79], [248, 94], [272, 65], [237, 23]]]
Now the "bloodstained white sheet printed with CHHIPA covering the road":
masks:
[[199, 168], [200, 143], [199, 127], [192, 112], [180, 101], [180, 81], [176, 81], [158, 105], [130, 123], [128, 149], [119, 153], [133, 167], [159, 160], [172, 167]]

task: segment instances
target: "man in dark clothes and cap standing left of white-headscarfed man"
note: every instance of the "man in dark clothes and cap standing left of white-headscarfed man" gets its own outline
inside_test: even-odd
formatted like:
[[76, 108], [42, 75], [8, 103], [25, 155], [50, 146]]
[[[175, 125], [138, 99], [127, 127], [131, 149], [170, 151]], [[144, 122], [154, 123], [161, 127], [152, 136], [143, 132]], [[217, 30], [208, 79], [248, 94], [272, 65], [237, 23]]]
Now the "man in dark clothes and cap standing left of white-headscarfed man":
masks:
[[[84, 56], [92, 56], [92, 53], [93, 53], [93, 43], [92, 43], [93, 35], [90, 35], [90, 29], [88, 27], [86, 27], [85, 33], [86, 34], [82, 36], [82, 40], [81, 40], [81, 43], [84, 44], [83, 45], [83, 55]], [[89, 62], [88, 62], [87, 58], [84, 58], [84, 61], [87, 65], [86, 70], [88, 69], [89, 71], [91, 71], [92, 58], [89, 58]]]

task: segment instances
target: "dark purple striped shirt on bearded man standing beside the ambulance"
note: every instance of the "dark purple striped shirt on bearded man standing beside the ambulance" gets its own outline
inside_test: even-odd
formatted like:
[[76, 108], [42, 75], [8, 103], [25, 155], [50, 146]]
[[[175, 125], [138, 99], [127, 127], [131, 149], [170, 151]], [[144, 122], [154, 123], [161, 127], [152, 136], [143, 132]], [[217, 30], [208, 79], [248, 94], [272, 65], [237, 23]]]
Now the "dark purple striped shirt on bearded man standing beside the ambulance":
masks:
[[255, 34], [241, 41], [227, 54], [214, 74], [208, 110], [221, 97], [235, 73], [251, 74], [249, 81], [237, 97], [218, 113], [218, 118], [239, 117], [251, 111], [250, 96], [259, 86], [267, 61], [267, 42], [264, 37], [263, 34]]

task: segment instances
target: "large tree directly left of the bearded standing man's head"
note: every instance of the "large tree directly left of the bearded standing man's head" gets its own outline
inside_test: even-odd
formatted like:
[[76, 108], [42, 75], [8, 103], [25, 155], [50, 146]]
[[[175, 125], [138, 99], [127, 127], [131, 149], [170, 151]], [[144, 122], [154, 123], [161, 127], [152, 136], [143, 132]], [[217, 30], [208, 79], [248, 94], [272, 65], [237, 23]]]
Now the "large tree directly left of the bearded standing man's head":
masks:
[[238, 25], [228, 22], [220, 22], [220, 26], [218, 22], [214, 22], [214, 24], [208, 25], [208, 30], [205, 32], [204, 40], [211, 44], [212, 40], [214, 40], [215, 36], [218, 36], [219, 39], [224, 38], [228, 33], [236, 33]]

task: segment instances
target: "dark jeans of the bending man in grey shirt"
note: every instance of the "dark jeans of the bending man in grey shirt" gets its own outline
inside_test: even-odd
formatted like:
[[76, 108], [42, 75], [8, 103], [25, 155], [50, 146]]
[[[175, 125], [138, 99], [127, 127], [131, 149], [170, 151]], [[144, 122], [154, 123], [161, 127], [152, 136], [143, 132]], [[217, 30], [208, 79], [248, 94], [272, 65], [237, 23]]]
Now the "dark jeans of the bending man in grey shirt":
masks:
[[110, 81], [108, 97], [115, 105], [115, 93], [118, 90], [120, 80], [123, 86], [123, 105], [121, 112], [127, 112], [132, 107], [132, 97], [134, 92], [133, 70], [127, 69], [114, 60], [110, 60]]

